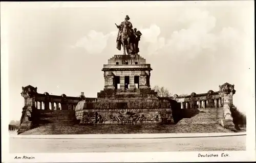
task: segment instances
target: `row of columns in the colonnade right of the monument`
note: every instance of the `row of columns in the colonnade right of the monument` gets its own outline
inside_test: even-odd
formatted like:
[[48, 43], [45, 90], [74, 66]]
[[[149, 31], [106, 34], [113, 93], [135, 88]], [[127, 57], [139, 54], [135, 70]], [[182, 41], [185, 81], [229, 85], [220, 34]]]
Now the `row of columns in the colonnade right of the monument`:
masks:
[[180, 102], [181, 108], [208, 108], [208, 107], [222, 107], [222, 99], [216, 98], [211, 100], [187, 101]]

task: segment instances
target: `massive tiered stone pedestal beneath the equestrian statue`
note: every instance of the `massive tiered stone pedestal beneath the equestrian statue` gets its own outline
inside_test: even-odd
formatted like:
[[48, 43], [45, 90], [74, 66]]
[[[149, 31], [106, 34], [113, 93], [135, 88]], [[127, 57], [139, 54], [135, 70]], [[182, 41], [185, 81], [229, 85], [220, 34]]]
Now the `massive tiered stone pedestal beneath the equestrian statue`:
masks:
[[151, 90], [150, 64], [139, 55], [115, 55], [103, 65], [105, 85], [95, 101], [80, 101], [80, 124], [173, 124], [177, 101]]

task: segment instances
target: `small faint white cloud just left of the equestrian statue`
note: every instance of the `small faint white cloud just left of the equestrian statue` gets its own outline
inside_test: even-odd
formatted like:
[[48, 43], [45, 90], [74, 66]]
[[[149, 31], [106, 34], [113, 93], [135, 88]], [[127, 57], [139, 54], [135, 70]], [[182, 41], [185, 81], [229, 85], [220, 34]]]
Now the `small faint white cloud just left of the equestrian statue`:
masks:
[[102, 32], [91, 30], [86, 36], [79, 39], [72, 48], [82, 47], [90, 54], [98, 54], [104, 50], [108, 44], [108, 39], [115, 35], [117, 35], [115, 31], [104, 35]]

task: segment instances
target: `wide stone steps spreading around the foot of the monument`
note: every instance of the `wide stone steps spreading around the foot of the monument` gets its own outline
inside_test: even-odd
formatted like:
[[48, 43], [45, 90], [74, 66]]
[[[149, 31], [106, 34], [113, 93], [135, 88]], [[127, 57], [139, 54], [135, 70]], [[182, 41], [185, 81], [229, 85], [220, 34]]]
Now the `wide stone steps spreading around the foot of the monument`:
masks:
[[[203, 108], [174, 125], [79, 125], [74, 111], [40, 111], [39, 126], [22, 134], [215, 133], [232, 132], [221, 126], [223, 108]], [[191, 112], [193, 112], [191, 110]]]

